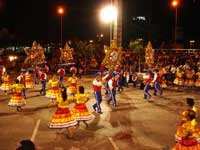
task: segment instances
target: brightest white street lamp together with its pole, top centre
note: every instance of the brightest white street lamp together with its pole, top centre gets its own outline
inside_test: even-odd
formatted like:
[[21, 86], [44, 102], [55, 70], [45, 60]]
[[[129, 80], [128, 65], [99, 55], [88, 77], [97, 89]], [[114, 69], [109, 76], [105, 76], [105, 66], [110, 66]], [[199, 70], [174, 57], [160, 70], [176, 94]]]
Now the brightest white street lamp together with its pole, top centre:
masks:
[[100, 18], [103, 22], [110, 24], [110, 45], [113, 40], [113, 23], [117, 21], [117, 9], [112, 6], [104, 7], [100, 12]]

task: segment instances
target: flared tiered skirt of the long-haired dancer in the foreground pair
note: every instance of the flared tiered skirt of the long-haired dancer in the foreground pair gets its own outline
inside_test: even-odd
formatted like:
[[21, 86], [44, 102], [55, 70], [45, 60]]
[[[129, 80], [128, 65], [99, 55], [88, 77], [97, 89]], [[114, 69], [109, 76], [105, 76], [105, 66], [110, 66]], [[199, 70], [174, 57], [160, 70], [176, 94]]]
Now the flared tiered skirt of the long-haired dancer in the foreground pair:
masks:
[[49, 128], [62, 129], [75, 126], [77, 123], [76, 118], [68, 108], [58, 108], [49, 121], [48, 126]]

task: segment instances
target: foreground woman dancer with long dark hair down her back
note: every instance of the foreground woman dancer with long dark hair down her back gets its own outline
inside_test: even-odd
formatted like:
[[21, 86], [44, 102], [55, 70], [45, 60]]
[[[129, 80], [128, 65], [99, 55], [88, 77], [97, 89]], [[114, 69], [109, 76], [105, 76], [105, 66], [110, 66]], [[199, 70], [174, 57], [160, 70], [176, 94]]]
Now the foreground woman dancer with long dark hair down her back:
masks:
[[58, 108], [49, 121], [48, 126], [53, 129], [66, 128], [68, 136], [73, 137], [73, 130], [71, 127], [77, 125], [78, 122], [69, 110], [69, 104], [72, 99], [67, 96], [65, 87], [62, 87], [61, 92], [61, 96], [57, 98]]

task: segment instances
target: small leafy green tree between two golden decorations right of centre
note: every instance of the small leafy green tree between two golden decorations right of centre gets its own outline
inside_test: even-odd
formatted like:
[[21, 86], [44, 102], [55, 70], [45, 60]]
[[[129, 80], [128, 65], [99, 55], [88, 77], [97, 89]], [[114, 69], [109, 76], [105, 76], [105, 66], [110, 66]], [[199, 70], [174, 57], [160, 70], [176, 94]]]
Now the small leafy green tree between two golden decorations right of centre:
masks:
[[141, 72], [141, 56], [144, 55], [143, 39], [136, 39], [135, 41], [130, 41], [129, 48], [133, 53], [138, 55], [138, 71]]

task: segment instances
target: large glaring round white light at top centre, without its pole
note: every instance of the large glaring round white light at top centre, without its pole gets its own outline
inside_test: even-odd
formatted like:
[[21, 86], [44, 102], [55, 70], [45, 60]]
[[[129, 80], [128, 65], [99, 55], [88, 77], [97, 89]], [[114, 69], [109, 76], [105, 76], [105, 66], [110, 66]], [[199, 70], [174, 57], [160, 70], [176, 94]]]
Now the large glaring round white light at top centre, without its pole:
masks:
[[105, 23], [109, 23], [117, 20], [117, 9], [113, 6], [107, 6], [101, 10], [101, 20]]

